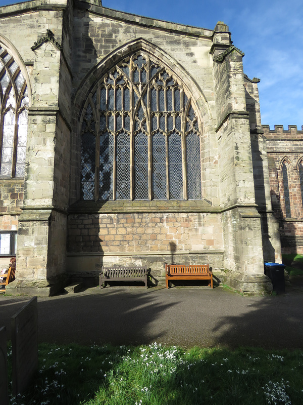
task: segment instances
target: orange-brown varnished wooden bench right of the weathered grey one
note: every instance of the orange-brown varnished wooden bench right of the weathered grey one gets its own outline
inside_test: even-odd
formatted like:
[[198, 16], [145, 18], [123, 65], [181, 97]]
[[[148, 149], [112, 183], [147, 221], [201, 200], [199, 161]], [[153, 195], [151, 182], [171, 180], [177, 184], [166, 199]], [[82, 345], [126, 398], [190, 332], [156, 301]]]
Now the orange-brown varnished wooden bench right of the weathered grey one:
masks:
[[165, 284], [169, 288], [172, 280], [210, 280], [209, 286], [213, 288], [213, 272], [209, 264], [179, 265], [165, 264]]

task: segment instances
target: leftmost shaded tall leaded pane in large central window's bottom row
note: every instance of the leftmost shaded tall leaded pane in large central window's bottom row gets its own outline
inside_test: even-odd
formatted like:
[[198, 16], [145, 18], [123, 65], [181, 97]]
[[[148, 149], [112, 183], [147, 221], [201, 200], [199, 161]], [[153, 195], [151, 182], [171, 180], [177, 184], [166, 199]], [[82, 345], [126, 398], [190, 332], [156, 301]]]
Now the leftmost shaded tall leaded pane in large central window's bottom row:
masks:
[[81, 184], [85, 200], [94, 199], [95, 180], [95, 136], [91, 132], [82, 135], [81, 145]]

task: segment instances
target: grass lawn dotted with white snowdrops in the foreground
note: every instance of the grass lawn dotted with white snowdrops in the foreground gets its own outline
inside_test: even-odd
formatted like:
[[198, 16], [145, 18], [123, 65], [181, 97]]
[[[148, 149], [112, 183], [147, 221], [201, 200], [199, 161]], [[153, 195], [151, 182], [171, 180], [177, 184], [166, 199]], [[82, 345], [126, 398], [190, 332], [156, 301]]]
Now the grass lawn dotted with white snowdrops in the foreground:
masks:
[[[8, 358], [10, 363], [10, 352]], [[140, 347], [41, 344], [33, 384], [10, 401], [11, 405], [301, 403], [302, 350], [184, 350], [157, 343]]]

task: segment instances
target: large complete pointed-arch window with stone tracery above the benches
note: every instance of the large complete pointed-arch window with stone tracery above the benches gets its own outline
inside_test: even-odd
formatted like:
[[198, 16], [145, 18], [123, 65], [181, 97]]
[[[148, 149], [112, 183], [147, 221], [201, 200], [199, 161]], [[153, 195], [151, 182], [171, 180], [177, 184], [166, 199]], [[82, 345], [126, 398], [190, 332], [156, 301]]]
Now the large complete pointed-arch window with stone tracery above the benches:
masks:
[[105, 74], [81, 121], [83, 199], [201, 199], [194, 105], [148, 55], [137, 52]]

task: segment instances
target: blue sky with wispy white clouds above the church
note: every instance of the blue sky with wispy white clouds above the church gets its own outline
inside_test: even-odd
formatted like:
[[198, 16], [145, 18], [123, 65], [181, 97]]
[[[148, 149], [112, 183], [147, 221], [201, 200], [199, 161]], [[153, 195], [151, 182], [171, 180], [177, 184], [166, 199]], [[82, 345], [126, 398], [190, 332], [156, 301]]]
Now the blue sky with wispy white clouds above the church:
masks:
[[[0, 5], [10, 3], [0, 0]], [[103, 6], [213, 29], [224, 21], [245, 53], [244, 73], [259, 77], [262, 124], [303, 125], [302, 0], [103, 0]], [[1, 26], [0, 26], [1, 30]]]

